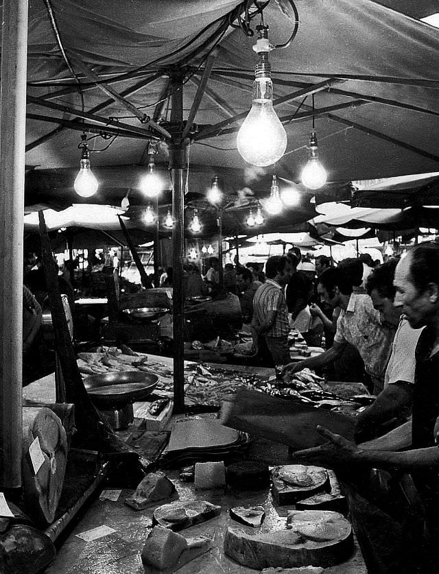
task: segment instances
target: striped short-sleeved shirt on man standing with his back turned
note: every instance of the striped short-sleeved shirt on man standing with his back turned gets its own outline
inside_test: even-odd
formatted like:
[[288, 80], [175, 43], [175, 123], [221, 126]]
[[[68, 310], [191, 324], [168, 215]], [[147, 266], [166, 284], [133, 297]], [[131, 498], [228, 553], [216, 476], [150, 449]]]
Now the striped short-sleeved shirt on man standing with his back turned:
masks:
[[265, 337], [287, 337], [289, 333], [288, 309], [281, 285], [273, 279], [267, 279], [254, 294], [253, 321], [263, 324], [268, 311], [277, 311], [272, 328]]

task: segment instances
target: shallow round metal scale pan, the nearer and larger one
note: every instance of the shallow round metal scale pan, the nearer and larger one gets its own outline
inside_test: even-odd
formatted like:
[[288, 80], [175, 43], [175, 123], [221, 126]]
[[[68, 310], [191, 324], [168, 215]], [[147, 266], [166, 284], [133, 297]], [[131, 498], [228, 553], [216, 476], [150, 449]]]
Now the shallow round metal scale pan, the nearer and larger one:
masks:
[[154, 391], [157, 383], [158, 376], [145, 371], [106, 372], [84, 379], [84, 387], [91, 400], [101, 407], [127, 405], [144, 400]]

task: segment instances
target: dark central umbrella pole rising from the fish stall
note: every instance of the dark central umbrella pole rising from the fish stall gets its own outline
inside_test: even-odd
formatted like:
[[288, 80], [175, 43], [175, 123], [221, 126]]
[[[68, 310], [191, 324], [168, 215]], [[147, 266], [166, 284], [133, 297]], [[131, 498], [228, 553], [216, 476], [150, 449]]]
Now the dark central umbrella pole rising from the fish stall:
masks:
[[185, 359], [183, 309], [183, 257], [185, 248], [185, 184], [186, 141], [181, 140], [183, 125], [183, 77], [176, 70], [171, 77], [171, 125], [174, 129], [169, 144], [169, 170], [172, 182], [172, 267], [173, 267], [173, 333], [174, 333], [174, 413], [185, 411]]

